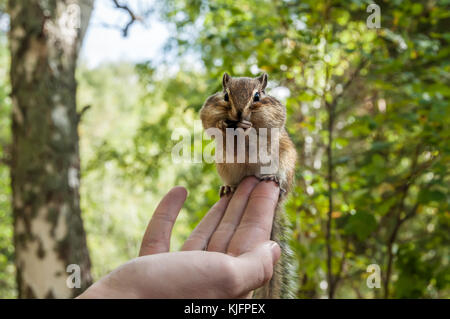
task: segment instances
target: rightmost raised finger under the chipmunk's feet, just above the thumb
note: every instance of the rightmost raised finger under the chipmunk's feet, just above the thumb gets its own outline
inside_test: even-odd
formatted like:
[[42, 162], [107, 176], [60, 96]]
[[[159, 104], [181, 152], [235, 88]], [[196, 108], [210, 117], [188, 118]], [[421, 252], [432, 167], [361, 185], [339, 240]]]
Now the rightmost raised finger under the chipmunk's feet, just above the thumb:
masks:
[[250, 194], [241, 222], [228, 246], [228, 253], [239, 256], [270, 239], [280, 188], [275, 182], [260, 182]]

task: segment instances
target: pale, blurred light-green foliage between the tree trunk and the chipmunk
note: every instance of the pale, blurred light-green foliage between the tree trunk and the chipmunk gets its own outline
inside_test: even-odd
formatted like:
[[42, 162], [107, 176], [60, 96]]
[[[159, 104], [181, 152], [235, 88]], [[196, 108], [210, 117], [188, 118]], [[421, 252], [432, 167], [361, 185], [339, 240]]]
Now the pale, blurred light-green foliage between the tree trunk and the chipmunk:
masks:
[[[198, 103], [186, 97], [203, 97], [204, 85], [194, 83], [192, 74], [157, 79], [152, 73], [147, 64], [135, 68], [127, 63], [92, 70], [81, 66], [77, 73], [79, 108], [91, 106], [80, 124], [80, 150], [81, 203], [94, 279], [136, 257], [160, 198], [176, 183], [191, 189], [179, 176], [188, 174], [187, 180], [197, 183], [189, 165], [173, 165], [171, 149], [177, 141], [170, 137], [176, 127], [192, 129], [196, 115], [179, 110]], [[189, 95], [181, 84], [201, 93]], [[201, 195], [189, 195], [188, 211], [199, 202], [193, 197]], [[181, 246], [195, 221], [180, 213], [172, 249]]]

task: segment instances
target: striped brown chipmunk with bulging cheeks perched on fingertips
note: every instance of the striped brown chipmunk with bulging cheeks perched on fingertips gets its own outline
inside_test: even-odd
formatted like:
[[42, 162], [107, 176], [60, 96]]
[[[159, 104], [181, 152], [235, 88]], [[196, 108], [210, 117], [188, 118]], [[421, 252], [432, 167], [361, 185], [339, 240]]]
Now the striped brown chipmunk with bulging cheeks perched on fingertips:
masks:
[[[225, 73], [222, 79], [223, 91], [210, 96], [205, 101], [200, 110], [200, 118], [205, 130], [216, 128], [223, 133], [221, 145], [226, 151], [222, 152], [222, 161], [216, 161], [217, 171], [224, 182], [220, 188], [220, 196], [234, 192], [237, 185], [246, 176], [271, 180], [280, 186], [280, 198], [275, 212], [271, 239], [280, 244], [282, 256], [275, 267], [271, 281], [257, 289], [254, 296], [256, 298], [292, 298], [296, 292], [294, 287], [296, 283], [294, 280], [295, 267], [292, 256], [290, 256], [288, 228], [282, 203], [293, 185], [297, 154], [284, 127], [286, 107], [276, 98], [266, 94], [267, 78], [266, 73], [257, 78], [232, 78]], [[263, 163], [260, 158], [250, 161], [251, 156], [255, 153], [255, 148], [253, 148], [254, 151], [250, 151], [255, 140], [250, 138], [251, 134], [249, 133], [263, 138], [261, 129], [264, 128], [267, 129], [267, 136], [264, 138], [267, 139], [270, 150], [267, 151], [268, 158], [270, 162], [277, 164], [276, 169], [271, 172], [262, 170], [263, 167], [267, 167], [267, 161]], [[234, 161], [230, 163], [226, 160], [226, 154], [229, 152], [226, 145], [231, 140], [227, 140], [225, 136], [229, 132], [234, 132], [237, 139], [240, 134], [244, 136], [245, 156], [243, 162], [236, 161], [239, 154], [236, 154], [237, 144], [234, 142], [234, 147], [230, 147], [234, 154]], [[218, 138], [215, 137], [217, 141]], [[216, 142], [216, 154], [218, 145], [220, 144]], [[272, 150], [272, 145], [278, 146], [278, 150]], [[261, 149], [258, 149], [257, 154], [261, 154], [260, 152]]]

